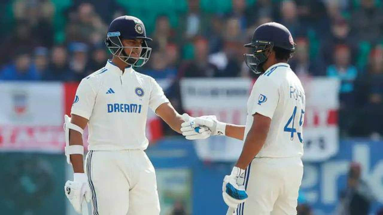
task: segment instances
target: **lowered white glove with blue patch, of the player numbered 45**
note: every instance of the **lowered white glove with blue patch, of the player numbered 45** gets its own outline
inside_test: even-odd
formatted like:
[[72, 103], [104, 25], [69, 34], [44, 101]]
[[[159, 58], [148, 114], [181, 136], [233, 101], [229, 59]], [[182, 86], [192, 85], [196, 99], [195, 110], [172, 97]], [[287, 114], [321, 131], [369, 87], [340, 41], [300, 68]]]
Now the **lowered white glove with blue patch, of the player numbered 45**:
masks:
[[226, 205], [230, 208], [237, 208], [247, 199], [244, 180], [245, 170], [234, 166], [231, 174], [225, 176], [222, 184], [222, 197]]

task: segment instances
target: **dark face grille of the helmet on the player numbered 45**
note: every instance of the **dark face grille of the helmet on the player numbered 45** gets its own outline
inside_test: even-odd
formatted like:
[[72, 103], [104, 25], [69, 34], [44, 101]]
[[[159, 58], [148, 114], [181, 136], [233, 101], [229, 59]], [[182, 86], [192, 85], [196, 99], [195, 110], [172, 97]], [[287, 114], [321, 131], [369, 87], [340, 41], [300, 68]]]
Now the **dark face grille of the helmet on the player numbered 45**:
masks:
[[246, 65], [255, 73], [264, 73], [262, 65], [267, 61], [274, 44], [270, 41], [257, 40], [254, 43], [246, 44], [245, 47], [253, 48], [254, 52], [245, 53]]

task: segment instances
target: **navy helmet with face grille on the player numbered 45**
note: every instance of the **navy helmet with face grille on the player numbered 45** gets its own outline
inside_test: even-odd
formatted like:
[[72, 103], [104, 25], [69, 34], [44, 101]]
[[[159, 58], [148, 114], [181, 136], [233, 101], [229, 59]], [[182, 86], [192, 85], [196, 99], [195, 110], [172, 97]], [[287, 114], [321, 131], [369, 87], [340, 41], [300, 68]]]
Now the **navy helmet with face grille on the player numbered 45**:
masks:
[[273, 47], [294, 52], [295, 44], [290, 31], [280, 23], [261, 24], [255, 29], [250, 43], [245, 47], [253, 48], [254, 52], [244, 54], [246, 65], [255, 73], [264, 72], [262, 65], [267, 61], [267, 50]]

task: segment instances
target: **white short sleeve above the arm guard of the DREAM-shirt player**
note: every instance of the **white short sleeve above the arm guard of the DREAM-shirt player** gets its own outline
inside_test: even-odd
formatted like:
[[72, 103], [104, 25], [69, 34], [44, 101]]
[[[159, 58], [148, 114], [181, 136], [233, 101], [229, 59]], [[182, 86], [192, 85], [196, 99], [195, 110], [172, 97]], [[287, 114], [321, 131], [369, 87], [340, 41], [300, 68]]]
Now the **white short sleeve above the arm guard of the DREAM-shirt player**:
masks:
[[70, 114], [75, 114], [86, 119], [92, 115], [96, 93], [87, 79], [83, 79], [77, 87], [76, 95]]

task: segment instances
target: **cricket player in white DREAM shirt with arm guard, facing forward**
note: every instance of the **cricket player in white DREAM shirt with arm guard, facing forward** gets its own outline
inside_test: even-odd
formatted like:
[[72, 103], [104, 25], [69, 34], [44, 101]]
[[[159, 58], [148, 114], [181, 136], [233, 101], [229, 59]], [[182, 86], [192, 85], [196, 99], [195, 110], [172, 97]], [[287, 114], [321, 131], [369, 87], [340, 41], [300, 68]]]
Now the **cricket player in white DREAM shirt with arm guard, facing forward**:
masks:
[[[144, 150], [148, 108], [173, 130], [184, 122], [154, 78], [134, 70], [151, 54], [145, 27], [133, 16], [110, 23], [105, 44], [113, 59], [80, 82], [71, 117], [65, 115], [65, 155], [74, 180], [65, 194], [81, 213], [92, 200], [93, 215], [159, 215], [154, 167]], [[193, 118], [190, 118], [193, 120]], [[82, 133], [88, 125], [88, 154], [83, 164]], [[201, 132], [201, 131], [200, 131]], [[202, 131], [199, 136], [210, 135]]]

